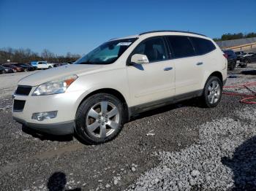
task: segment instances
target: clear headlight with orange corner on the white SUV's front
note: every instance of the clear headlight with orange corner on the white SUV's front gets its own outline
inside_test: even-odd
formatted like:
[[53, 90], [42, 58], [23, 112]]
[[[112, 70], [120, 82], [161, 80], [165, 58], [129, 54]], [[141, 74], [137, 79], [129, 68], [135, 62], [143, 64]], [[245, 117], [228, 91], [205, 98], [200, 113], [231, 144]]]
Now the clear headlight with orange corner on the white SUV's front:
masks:
[[72, 75], [69, 77], [64, 77], [54, 81], [46, 82], [42, 85], [39, 85], [32, 95], [50, 95], [57, 93], [64, 93], [67, 90], [67, 87], [72, 84], [72, 82], [78, 79], [77, 75]]

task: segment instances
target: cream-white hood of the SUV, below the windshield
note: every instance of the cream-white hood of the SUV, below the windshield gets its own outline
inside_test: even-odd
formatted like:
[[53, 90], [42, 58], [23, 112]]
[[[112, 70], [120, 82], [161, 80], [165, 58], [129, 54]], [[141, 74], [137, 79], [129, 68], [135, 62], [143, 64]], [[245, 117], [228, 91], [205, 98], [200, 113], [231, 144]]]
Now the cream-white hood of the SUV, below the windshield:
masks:
[[20, 79], [18, 85], [30, 85], [37, 86], [45, 82], [50, 82], [61, 77], [67, 77], [69, 75], [86, 74], [87, 72], [94, 71], [102, 68], [103, 65], [86, 65], [86, 64], [70, 64], [65, 66], [59, 66], [57, 68], [48, 69], [44, 71], [37, 71], [23, 79]]

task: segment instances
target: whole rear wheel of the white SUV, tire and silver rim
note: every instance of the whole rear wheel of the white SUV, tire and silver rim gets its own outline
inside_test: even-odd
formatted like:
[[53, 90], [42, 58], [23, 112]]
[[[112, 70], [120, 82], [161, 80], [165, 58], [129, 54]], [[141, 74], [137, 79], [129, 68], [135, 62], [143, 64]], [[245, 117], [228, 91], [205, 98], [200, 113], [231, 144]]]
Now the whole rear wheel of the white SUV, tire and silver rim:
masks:
[[[211, 90], [213, 87], [214, 90]], [[223, 85], [219, 77], [210, 76], [203, 88], [202, 104], [208, 108], [217, 106], [222, 98], [222, 89]]]

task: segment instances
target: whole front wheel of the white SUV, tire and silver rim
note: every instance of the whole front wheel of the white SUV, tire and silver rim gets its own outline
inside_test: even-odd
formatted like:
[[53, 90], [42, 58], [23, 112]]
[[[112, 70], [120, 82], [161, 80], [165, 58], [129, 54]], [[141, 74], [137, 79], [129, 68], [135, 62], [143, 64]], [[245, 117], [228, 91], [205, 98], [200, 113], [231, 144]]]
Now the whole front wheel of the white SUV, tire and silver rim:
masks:
[[86, 98], [78, 107], [75, 133], [86, 144], [102, 144], [118, 135], [123, 122], [124, 107], [121, 101], [113, 95], [97, 93]]

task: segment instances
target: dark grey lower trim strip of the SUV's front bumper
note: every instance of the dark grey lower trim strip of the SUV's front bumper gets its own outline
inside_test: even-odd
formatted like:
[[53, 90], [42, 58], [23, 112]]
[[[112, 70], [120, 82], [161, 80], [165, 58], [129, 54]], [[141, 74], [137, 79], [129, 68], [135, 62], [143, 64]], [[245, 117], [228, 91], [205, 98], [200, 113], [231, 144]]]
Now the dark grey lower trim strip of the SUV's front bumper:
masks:
[[51, 123], [51, 124], [36, 124], [31, 122], [26, 122], [25, 120], [21, 120], [17, 117], [13, 117], [13, 119], [19, 122], [26, 127], [32, 128], [42, 133], [48, 133], [52, 135], [69, 135], [74, 133], [75, 122], [59, 122], [59, 123]]

